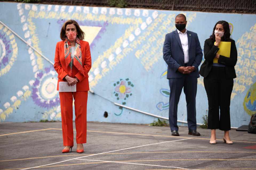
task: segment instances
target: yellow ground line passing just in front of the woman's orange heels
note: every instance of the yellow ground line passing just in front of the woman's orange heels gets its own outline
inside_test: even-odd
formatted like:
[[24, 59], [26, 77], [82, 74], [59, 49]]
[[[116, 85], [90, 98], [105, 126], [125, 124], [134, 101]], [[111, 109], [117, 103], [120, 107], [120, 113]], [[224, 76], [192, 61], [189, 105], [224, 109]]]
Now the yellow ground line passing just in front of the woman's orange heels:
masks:
[[[177, 151], [177, 152], [125, 152], [125, 153], [106, 153], [102, 155], [115, 155], [115, 154], [149, 154], [149, 153], [256, 153], [256, 152], [225, 152], [225, 151]], [[27, 159], [39, 159], [39, 158], [52, 158], [52, 157], [62, 157], [62, 156], [81, 156], [81, 155], [93, 155], [93, 154], [79, 154], [79, 155], [57, 155], [57, 156], [43, 156], [35, 158], [23, 158], [23, 159], [10, 159], [10, 160], [0, 160], [0, 162], [5, 161], [15, 161], [15, 160], [27, 160]]]

